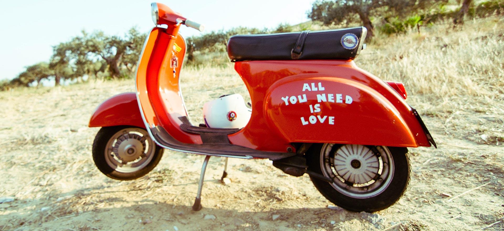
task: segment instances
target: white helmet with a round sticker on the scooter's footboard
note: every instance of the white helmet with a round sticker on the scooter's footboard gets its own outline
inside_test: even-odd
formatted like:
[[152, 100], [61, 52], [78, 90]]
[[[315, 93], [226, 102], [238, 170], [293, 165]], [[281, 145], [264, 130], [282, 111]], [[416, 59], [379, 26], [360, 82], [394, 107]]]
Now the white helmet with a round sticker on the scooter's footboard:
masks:
[[203, 105], [203, 118], [209, 128], [241, 129], [251, 113], [240, 94], [224, 95]]

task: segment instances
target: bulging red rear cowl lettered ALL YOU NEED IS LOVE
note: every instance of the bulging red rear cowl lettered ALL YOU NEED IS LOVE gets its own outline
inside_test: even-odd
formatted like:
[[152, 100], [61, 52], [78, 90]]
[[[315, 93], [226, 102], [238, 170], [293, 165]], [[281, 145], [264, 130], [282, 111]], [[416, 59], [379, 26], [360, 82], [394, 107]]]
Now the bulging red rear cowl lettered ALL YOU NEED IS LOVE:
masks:
[[269, 127], [289, 142], [430, 146], [410, 125], [418, 124], [411, 108], [353, 79], [291, 76], [272, 85], [265, 101]]

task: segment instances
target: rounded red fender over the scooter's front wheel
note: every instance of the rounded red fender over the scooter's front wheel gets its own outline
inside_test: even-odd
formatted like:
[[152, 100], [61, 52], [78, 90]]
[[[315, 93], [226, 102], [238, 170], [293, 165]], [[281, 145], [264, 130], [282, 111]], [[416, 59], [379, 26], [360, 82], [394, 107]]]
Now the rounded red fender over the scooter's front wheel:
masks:
[[138, 108], [137, 95], [127, 92], [114, 95], [103, 101], [93, 112], [89, 127], [131, 125], [145, 128]]

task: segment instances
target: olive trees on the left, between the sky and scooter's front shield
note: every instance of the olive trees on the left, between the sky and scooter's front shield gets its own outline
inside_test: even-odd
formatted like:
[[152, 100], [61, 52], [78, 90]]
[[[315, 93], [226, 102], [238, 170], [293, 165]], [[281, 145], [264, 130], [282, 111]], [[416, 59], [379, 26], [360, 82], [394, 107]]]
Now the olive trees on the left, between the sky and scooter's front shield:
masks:
[[103, 32], [87, 33], [53, 46], [48, 62], [27, 66], [16, 78], [0, 82], [0, 90], [16, 86], [39, 86], [44, 79], [54, 84], [82, 81], [84, 77], [121, 78], [130, 76], [137, 65], [146, 35], [132, 28], [125, 36]]

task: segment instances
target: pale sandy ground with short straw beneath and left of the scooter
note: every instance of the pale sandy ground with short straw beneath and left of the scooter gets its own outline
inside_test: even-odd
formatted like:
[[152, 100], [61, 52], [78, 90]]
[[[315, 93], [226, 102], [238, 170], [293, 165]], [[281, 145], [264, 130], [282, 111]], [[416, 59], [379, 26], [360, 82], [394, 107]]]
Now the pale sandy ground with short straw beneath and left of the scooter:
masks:
[[[224, 159], [212, 157], [203, 209], [192, 211], [203, 156], [165, 150], [133, 181], [109, 179], [93, 164], [92, 111], [133, 89], [128, 80], [0, 92], [0, 197], [14, 198], [0, 203], [0, 230], [475, 230], [504, 219], [502, 144], [445, 131], [446, 119], [425, 114], [438, 149], [410, 149], [410, 185], [388, 209], [335, 207], [309, 177], [288, 176], [268, 160], [230, 159], [232, 183], [223, 185]], [[481, 121], [485, 113], [464, 117]], [[501, 116], [491, 119], [502, 126]], [[501, 221], [485, 230], [503, 229]]]

